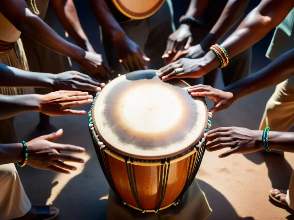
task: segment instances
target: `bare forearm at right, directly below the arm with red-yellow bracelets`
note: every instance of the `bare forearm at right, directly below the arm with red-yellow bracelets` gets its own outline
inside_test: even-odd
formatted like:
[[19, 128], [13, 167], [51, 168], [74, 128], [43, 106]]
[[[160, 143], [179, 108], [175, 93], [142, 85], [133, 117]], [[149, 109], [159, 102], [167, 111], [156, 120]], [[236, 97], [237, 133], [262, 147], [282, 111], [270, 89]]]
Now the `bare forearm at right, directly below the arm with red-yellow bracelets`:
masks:
[[274, 86], [294, 73], [294, 49], [284, 53], [263, 69], [225, 87], [223, 91], [233, 93], [234, 101], [251, 93]]

